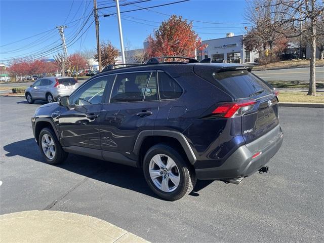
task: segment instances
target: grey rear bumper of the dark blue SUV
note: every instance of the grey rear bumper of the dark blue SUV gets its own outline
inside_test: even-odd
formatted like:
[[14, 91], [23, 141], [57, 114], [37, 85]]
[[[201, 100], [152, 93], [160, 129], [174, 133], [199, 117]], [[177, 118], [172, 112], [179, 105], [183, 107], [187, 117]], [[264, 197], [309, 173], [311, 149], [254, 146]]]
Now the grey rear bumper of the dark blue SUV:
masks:
[[[197, 178], [200, 180], [227, 180], [250, 176], [268, 163], [281, 147], [282, 141], [283, 133], [278, 125], [252, 143], [240, 146], [221, 166], [196, 169]], [[261, 154], [252, 158], [257, 152], [261, 152]]]

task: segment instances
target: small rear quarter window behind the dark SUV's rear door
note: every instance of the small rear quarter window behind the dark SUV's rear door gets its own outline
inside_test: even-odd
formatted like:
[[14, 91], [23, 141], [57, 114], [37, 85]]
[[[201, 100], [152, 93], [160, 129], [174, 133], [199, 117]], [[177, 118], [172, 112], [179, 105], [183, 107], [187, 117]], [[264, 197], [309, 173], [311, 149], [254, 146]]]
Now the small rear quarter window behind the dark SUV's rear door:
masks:
[[165, 72], [157, 72], [158, 91], [161, 100], [177, 99], [182, 94], [178, 83]]

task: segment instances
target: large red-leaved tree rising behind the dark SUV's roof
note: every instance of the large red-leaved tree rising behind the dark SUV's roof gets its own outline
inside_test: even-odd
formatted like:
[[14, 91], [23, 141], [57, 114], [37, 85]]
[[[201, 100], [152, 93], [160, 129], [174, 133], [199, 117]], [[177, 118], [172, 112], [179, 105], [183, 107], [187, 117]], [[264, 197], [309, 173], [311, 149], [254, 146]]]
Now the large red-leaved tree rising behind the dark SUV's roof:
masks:
[[172, 15], [155, 30], [154, 36], [147, 37], [148, 57], [183, 56], [194, 57], [195, 50], [204, 48], [200, 38], [192, 30], [192, 22], [182, 20], [181, 16]]

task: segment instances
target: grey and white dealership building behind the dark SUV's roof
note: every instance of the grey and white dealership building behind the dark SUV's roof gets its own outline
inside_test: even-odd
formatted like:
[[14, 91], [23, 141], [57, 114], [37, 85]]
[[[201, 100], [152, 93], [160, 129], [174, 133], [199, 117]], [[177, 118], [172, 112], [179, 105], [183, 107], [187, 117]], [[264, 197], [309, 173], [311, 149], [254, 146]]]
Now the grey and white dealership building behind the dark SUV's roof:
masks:
[[227, 33], [224, 38], [203, 41], [208, 47], [203, 51], [197, 51], [197, 59], [200, 61], [211, 58], [212, 62], [226, 63], [254, 62], [259, 54], [245, 50], [242, 38], [243, 35], [234, 36], [234, 33]]

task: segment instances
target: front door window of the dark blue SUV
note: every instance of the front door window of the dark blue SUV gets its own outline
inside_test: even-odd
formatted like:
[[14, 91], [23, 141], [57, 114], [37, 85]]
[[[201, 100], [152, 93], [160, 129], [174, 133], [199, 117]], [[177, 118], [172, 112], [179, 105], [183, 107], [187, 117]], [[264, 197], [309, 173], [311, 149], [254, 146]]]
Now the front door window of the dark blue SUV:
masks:
[[101, 104], [109, 76], [92, 79], [70, 97], [71, 105]]

